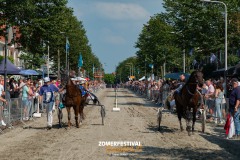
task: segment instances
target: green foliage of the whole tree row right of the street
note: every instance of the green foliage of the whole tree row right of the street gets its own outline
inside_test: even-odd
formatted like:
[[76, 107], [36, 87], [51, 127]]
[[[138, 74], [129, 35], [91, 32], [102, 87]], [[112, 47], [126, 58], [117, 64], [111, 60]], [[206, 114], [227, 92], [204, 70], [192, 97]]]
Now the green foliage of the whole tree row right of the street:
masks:
[[[240, 48], [240, 1], [222, 2], [228, 8], [228, 66], [234, 66], [239, 61], [236, 53]], [[138, 49], [136, 65], [141, 75], [151, 73], [149, 64], [154, 64], [155, 75], [162, 75], [164, 62], [166, 72], [172, 72], [175, 67], [182, 71], [183, 51], [186, 55], [186, 72], [193, 70], [193, 60], [203, 66], [206, 76], [216, 70], [216, 67], [224, 68], [224, 5], [196, 0], [163, 0], [163, 6], [165, 12], [149, 19], [135, 45]], [[189, 51], [193, 48], [194, 52], [190, 55]], [[218, 61], [221, 59], [218, 66], [208, 64], [211, 53], [217, 56]], [[117, 72], [121, 71], [119, 66]]]

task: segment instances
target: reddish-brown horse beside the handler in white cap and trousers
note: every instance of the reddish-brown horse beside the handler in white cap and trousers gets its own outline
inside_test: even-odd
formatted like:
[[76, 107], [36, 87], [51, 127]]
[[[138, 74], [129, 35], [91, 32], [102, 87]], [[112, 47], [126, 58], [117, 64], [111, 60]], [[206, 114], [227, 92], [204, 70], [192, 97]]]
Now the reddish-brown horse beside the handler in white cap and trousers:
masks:
[[76, 127], [79, 128], [78, 114], [80, 114], [80, 121], [84, 119], [83, 108], [84, 108], [84, 98], [80, 89], [72, 82], [69, 78], [66, 84], [66, 95], [64, 100], [64, 105], [66, 106], [68, 112], [68, 127], [71, 126], [71, 107], [74, 109]]

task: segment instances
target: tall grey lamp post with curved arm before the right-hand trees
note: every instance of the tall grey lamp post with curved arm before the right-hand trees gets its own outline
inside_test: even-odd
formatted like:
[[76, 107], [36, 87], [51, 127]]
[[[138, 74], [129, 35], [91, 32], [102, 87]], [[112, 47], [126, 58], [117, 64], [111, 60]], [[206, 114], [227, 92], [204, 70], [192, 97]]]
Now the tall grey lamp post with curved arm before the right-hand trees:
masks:
[[224, 81], [225, 81], [225, 86], [224, 90], [225, 92], [227, 91], [226, 86], [227, 86], [227, 5], [224, 2], [221, 1], [212, 1], [212, 0], [201, 0], [202, 2], [209, 2], [209, 3], [219, 3], [224, 5], [225, 9], [225, 68], [224, 68]]

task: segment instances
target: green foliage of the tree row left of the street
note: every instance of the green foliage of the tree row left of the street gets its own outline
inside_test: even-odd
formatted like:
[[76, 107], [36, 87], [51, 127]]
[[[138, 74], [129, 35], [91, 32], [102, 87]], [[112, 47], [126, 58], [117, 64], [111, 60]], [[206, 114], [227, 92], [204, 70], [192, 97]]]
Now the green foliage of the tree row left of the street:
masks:
[[[65, 68], [66, 37], [70, 42], [70, 69], [78, 70], [80, 53], [85, 70], [90, 71], [93, 64], [101, 66], [92, 53], [82, 22], [73, 16], [73, 10], [67, 7], [67, 0], [2, 0], [0, 8], [3, 13], [0, 26], [7, 24], [20, 27], [21, 38], [15, 39], [15, 42], [20, 43], [22, 50], [27, 53], [20, 57], [25, 60], [26, 67], [38, 68], [45, 63], [43, 57], [48, 55], [49, 46], [53, 69], [57, 70], [58, 57], [61, 68]], [[4, 35], [3, 31], [0, 30], [0, 35]]]

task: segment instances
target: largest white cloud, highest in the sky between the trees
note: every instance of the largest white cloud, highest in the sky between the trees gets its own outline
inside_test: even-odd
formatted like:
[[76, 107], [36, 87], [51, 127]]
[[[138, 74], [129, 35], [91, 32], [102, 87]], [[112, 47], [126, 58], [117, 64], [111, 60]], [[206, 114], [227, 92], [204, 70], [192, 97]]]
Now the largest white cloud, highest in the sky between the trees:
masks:
[[150, 14], [140, 5], [133, 3], [96, 3], [96, 12], [115, 20], [142, 20]]

